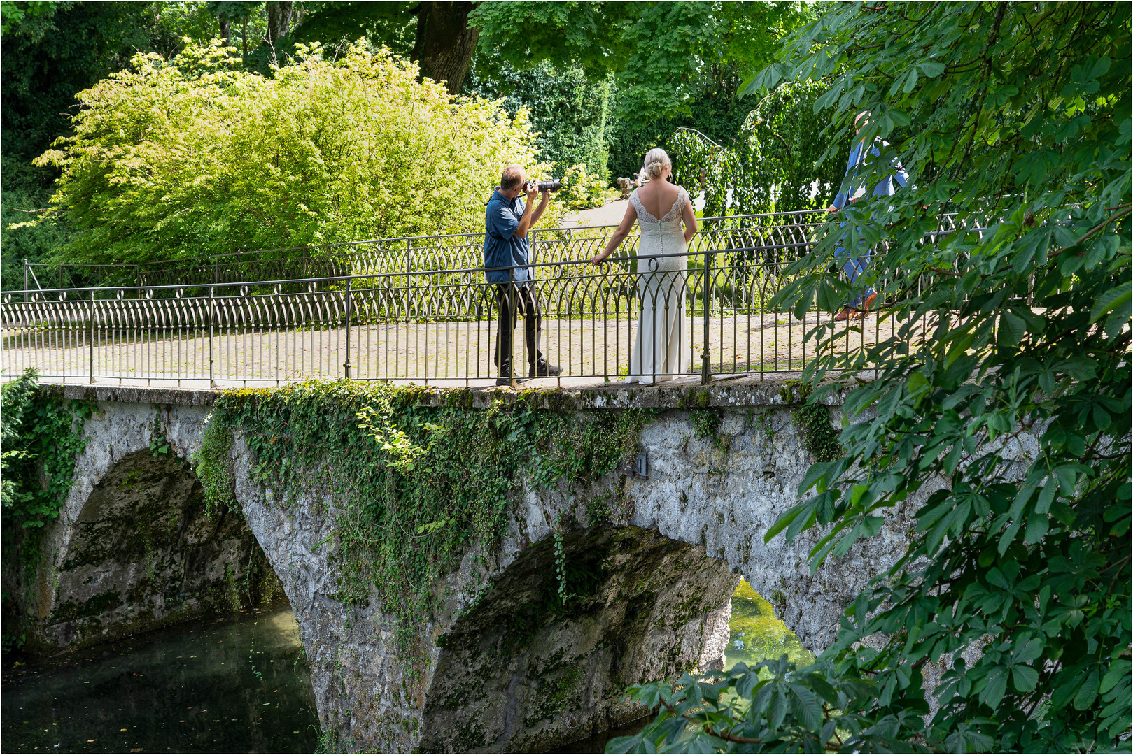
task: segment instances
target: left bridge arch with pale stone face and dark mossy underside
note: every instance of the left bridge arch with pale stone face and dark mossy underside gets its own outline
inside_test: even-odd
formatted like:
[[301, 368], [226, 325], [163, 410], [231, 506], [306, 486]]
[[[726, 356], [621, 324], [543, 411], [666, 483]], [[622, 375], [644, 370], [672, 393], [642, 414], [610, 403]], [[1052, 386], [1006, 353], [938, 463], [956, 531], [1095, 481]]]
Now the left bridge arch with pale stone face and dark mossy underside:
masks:
[[244, 518], [205, 511], [188, 456], [206, 411], [97, 404], [34, 576], [6, 575], [26, 580], [12, 591], [15, 611], [5, 608], [28, 650], [93, 645], [282, 595]]

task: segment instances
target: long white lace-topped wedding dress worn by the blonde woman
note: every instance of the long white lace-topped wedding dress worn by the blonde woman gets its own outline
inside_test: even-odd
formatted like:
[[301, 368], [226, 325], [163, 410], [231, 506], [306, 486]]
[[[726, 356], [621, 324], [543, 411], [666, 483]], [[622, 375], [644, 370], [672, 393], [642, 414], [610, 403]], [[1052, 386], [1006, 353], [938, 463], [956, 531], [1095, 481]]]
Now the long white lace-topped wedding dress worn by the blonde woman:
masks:
[[681, 189], [673, 207], [661, 218], [649, 214], [637, 191], [630, 195], [630, 201], [637, 211], [641, 232], [637, 281], [641, 316], [625, 381], [659, 383], [684, 375], [692, 363], [691, 331], [684, 311], [689, 264], [683, 256], [684, 230], [681, 226], [689, 195]]

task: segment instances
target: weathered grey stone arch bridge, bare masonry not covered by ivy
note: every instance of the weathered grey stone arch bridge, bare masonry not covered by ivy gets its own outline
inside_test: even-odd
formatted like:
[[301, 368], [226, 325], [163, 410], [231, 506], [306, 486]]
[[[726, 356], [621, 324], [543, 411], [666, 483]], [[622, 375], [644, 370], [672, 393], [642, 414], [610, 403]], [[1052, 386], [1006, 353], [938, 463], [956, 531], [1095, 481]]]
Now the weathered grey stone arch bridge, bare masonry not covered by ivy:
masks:
[[[637, 718], [644, 711], [624, 701], [627, 686], [722, 661], [740, 576], [819, 651], [844, 604], [904, 550], [913, 526], [908, 511], [896, 512], [878, 537], [815, 575], [806, 560], [812, 539], [764, 543], [796, 501], [809, 463], [785, 384], [556, 392], [555, 407], [568, 411], [661, 409], [640, 436], [645, 475], [613, 474], [588, 491], [623, 487], [616, 525], [586, 526], [585, 495], [526, 484], [502, 546], [468, 552], [436, 585], [440, 608], [419, 637], [426, 662], [411, 670], [398, 660], [393, 619], [381, 606], [335, 599], [333, 548], [320, 547], [333, 538], [324, 501], [274, 504], [287, 491], [253, 482], [239, 437], [231, 454], [242, 517], [203, 515], [185, 460], [199, 445], [212, 392], [62, 391], [96, 401], [97, 412], [24, 591], [33, 645], [93, 644], [188, 618], [210, 591], [258, 563], [291, 603], [320, 719], [343, 749], [538, 752]], [[445, 401], [440, 392], [421, 396]], [[474, 407], [495, 398], [518, 400], [472, 392]], [[829, 400], [834, 421], [840, 403]], [[690, 406], [717, 413], [713, 436], [698, 435]], [[600, 577], [580, 608], [546, 617], [536, 609], [554, 585], [556, 522], [573, 523], [562, 537], [566, 557]]]

